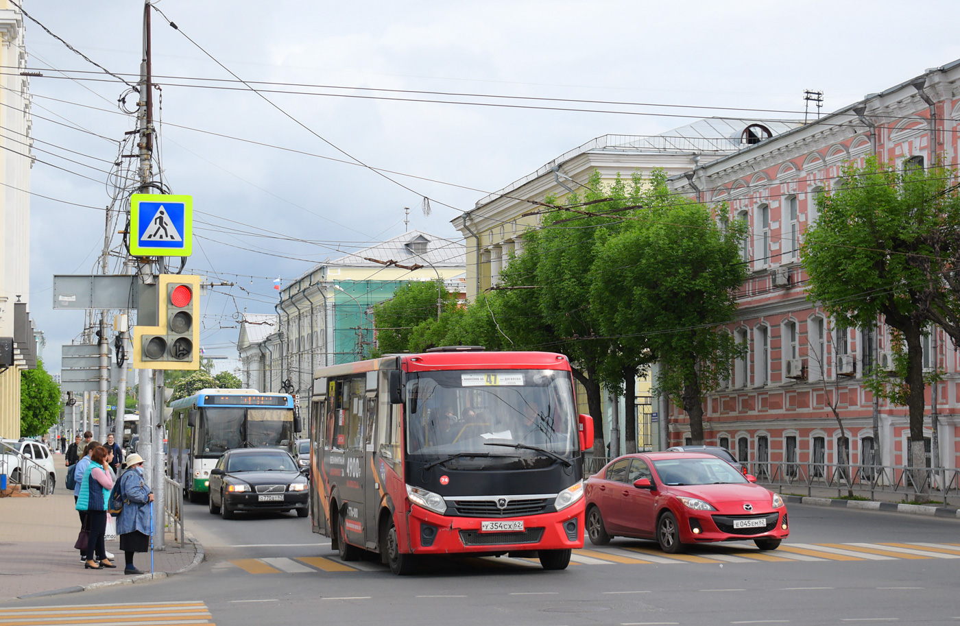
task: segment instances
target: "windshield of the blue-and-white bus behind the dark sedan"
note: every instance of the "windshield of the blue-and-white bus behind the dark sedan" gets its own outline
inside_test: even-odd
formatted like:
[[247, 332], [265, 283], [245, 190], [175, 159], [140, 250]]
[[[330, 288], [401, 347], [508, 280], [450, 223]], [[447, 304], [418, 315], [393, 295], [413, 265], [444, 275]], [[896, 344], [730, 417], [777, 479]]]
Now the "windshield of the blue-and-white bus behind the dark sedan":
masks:
[[293, 409], [204, 408], [196, 454], [220, 456], [234, 447], [288, 446], [293, 437]]

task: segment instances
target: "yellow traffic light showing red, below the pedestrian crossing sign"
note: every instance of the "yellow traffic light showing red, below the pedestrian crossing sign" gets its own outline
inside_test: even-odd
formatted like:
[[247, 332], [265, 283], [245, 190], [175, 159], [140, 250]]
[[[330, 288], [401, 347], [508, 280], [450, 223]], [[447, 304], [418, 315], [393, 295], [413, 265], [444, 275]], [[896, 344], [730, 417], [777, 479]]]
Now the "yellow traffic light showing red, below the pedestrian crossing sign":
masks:
[[200, 277], [161, 274], [156, 326], [133, 326], [133, 367], [200, 369]]

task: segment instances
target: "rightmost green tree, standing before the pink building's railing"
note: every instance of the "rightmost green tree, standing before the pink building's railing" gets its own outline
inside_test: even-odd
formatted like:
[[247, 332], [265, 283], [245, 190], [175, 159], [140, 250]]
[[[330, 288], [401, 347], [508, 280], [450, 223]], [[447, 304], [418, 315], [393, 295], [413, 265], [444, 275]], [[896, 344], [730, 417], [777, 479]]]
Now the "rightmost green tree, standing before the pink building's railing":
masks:
[[[902, 378], [877, 391], [905, 404], [910, 421], [909, 464], [924, 466], [922, 335], [929, 325], [931, 275], [919, 259], [936, 259], [935, 233], [952, 227], [945, 215], [942, 171], [898, 172], [867, 159], [844, 169], [845, 184], [819, 200], [820, 216], [807, 229], [801, 258], [807, 297], [838, 325], [869, 327], [882, 316], [900, 337]], [[950, 211], [947, 211], [948, 214]], [[955, 236], [955, 234], [954, 234]], [[943, 281], [937, 277], [934, 291]]]

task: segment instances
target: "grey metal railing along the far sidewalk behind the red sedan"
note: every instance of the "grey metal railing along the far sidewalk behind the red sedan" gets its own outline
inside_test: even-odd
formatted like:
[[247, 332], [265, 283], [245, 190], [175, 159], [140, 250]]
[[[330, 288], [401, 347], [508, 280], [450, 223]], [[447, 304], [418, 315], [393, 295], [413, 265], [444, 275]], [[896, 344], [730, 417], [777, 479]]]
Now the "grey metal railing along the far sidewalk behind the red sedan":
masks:
[[[603, 469], [609, 457], [588, 457], [584, 462], [586, 476]], [[960, 500], [960, 470], [952, 468], [911, 468], [882, 465], [844, 465], [824, 462], [792, 463], [787, 461], [750, 461], [747, 471], [756, 481], [780, 493], [791, 489], [836, 490], [837, 497], [854, 495], [876, 499], [876, 494], [902, 494], [903, 499], [941, 500], [949, 504]]]

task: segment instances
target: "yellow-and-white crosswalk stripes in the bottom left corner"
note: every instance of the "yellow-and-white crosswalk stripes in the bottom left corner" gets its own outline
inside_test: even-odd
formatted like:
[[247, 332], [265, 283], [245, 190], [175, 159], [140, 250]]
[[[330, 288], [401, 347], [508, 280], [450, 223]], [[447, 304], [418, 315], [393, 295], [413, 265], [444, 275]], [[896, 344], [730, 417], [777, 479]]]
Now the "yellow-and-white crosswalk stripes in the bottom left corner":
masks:
[[55, 607], [0, 608], [4, 626], [76, 626], [79, 624], [212, 624], [203, 602], [137, 602], [129, 604], [65, 604]]

